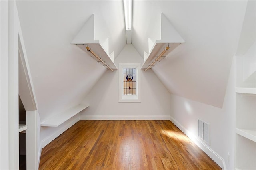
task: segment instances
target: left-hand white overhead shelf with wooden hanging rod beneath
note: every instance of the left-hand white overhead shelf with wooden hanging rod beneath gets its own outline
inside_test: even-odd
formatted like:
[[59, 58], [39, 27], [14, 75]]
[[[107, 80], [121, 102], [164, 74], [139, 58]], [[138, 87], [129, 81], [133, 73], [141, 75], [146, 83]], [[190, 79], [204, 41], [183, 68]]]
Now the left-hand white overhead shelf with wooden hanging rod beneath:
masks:
[[[86, 47], [90, 47], [96, 55], [98, 55], [111, 69], [117, 69], [114, 63], [114, 51], [109, 55], [108, 54], [108, 38], [104, 41], [95, 40], [95, 29], [94, 29], [94, 14], [87, 20], [83, 28], [72, 40], [71, 44], [77, 45], [80, 49], [88, 53], [91, 57], [96, 57], [87, 51]], [[99, 62], [104, 65], [102, 62]], [[107, 68], [107, 67], [106, 67]]]

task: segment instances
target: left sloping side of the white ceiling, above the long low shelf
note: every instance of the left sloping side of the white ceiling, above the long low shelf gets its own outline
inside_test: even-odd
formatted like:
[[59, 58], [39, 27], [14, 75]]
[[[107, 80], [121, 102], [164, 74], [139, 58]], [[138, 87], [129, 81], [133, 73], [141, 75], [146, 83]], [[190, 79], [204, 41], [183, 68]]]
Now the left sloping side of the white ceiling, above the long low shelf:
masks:
[[[106, 69], [71, 45], [95, 15], [109, 36], [109, 52], [126, 45], [122, 1], [17, 1], [28, 62], [42, 121], [78, 105]], [[101, 34], [101, 32], [99, 33]], [[102, 33], [103, 34], [103, 33]]]

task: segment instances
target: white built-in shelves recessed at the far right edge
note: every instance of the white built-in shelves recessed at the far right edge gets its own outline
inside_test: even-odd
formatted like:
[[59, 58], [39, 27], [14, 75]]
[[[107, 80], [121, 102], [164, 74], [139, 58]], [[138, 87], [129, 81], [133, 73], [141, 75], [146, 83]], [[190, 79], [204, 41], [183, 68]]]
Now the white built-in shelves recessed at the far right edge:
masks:
[[[242, 54], [242, 53], [241, 53]], [[256, 169], [255, 42], [236, 57], [236, 157], [237, 170]]]

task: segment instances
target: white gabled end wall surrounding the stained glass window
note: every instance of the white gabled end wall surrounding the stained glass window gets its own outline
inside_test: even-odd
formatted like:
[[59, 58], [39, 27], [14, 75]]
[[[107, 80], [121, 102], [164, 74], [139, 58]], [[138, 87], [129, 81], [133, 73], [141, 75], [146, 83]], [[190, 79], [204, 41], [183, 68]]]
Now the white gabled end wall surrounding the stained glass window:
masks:
[[[115, 64], [142, 63], [133, 45], [126, 45]], [[169, 119], [170, 93], [151, 71], [141, 70], [141, 102], [118, 102], [118, 71], [106, 71], [84, 99], [90, 106], [81, 119]]]

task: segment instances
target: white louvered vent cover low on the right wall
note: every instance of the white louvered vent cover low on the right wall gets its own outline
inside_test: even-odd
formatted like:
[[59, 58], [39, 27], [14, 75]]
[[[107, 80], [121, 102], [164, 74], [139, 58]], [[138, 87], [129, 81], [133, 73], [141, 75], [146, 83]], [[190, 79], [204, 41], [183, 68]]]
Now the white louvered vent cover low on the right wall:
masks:
[[198, 137], [210, 145], [210, 124], [198, 119]]

